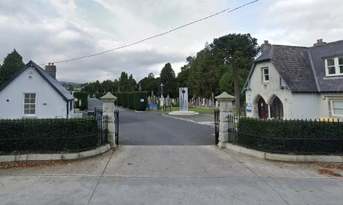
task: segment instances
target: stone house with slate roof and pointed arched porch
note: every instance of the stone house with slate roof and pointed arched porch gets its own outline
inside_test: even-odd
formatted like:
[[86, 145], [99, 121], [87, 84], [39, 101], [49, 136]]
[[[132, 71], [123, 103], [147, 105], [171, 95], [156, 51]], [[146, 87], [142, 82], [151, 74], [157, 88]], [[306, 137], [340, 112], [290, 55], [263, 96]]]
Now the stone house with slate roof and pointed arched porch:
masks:
[[343, 118], [343, 40], [261, 48], [243, 88], [247, 116]]

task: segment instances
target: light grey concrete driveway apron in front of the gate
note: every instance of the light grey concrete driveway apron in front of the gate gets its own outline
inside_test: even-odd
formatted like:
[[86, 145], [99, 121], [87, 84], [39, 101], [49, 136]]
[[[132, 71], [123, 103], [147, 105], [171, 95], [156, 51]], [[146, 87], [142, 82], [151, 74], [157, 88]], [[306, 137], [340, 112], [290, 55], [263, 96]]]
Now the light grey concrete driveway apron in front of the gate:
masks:
[[214, 146], [121, 146], [65, 165], [0, 169], [0, 204], [342, 204], [343, 179], [320, 169]]

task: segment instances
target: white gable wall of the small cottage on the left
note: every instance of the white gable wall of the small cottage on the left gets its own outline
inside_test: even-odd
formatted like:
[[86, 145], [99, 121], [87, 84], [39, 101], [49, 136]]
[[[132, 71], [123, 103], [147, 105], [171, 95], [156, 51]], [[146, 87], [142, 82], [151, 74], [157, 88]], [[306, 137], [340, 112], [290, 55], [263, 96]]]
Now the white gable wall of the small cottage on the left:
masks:
[[[33, 70], [29, 79], [29, 70]], [[66, 101], [32, 67], [24, 70], [0, 92], [0, 118], [17, 119], [23, 115], [23, 93], [36, 93], [37, 118], [67, 117]], [[7, 99], [9, 101], [7, 101]], [[43, 105], [46, 104], [46, 105]], [[74, 111], [74, 110], [72, 110]]]

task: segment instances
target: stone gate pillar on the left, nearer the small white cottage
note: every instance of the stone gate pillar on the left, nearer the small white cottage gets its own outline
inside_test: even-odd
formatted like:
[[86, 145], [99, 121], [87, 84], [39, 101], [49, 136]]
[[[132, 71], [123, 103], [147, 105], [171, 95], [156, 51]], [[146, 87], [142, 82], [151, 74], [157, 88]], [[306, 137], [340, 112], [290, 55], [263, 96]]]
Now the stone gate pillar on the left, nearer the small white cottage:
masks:
[[107, 115], [107, 140], [110, 143], [111, 147], [116, 146], [116, 140], [114, 132], [116, 130], [114, 124], [114, 101], [116, 101], [116, 97], [112, 95], [111, 92], [107, 92], [106, 95], [100, 98], [103, 101], [103, 115]]

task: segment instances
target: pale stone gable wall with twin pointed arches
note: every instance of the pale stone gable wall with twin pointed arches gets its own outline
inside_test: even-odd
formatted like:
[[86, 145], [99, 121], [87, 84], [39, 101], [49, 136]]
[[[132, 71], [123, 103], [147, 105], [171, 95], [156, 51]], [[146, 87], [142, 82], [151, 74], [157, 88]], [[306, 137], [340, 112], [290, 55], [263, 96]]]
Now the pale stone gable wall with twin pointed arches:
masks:
[[[262, 82], [262, 68], [269, 68], [269, 82]], [[282, 80], [282, 84], [286, 85]], [[271, 101], [273, 95], [276, 95], [283, 104], [284, 118], [293, 117], [292, 110], [292, 93], [287, 88], [280, 88], [280, 74], [271, 62], [258, 63], [251, 75], [249, 90], [245, 92], [246, 102], [251, 104], [251, 113], [247, 113], [249, 117], [258, 117], [258, 105], [254, 101], [258, 95], [261, 95], [266, 104]]]

